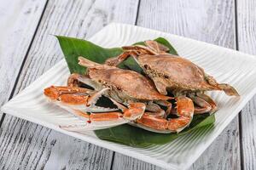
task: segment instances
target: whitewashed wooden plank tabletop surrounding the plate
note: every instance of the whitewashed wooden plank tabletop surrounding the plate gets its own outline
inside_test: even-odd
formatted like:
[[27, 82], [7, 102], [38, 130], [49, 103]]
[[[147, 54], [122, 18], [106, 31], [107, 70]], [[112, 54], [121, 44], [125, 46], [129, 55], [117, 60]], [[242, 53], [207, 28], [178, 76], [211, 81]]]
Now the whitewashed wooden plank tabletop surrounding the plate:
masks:
[[[52, 35], [88, 38], [121, 22], [256, 54], [255, 10], [254, 0], [0, 0], [0, 103], [63, 58]], [[0, 169], [160, 169], [0, 116]], [[191, 169], [256, 169], [255, 128], [254, 96]]]

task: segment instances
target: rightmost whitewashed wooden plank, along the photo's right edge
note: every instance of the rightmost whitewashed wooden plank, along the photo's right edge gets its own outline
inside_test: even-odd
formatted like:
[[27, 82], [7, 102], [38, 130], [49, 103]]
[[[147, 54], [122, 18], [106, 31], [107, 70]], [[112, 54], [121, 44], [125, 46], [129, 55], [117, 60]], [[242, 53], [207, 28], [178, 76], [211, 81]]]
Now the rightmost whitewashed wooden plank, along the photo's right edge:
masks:
[[[239, 51], [256, 55], [256, 2], [237, 1]], [[256, 56], [255, 56], [256, 57]], [[255, 65], [256, 66], [256, 65]], [[256, 76], [255, 76], [256, 78]], [[244, 169], [256, 169], [256, 96], [241, 111], [241, 146]]]

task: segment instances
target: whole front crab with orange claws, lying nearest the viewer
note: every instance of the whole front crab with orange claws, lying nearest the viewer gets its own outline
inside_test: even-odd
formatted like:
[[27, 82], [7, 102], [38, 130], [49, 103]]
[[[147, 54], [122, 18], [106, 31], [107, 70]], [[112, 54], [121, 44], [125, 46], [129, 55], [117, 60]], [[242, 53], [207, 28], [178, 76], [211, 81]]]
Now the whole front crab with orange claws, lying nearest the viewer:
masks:
[[[78, 102], [79, 108], [73, 108], [72, 106], [72, 111], [75, 115], [85, 118], [92, 116], [90, 117], [91, 122], [105, 121], [114, 117], [114, 119], [122, 119], [122, 122], [119, 122], [119, 124], [128, 121], [128, 123], [134, 126], [143, 127], [146, 130], [157, 133], [178, 133], [183, 130], [183, 128], [187, 127], [193, 118], [193, 102], [191, 99], [183, 96], [177, 99], [177, 112], [179, 113], [179, 117], [166, 119], [166, 116], [168, 116], [172, 110], [172, 104], [167, 100], [172, 99], [172, 97], [160, 94], [151, 80], [135, 71], [123, 70], [110, 65], [100, 65], [89, 59], [84, 59], [83, 57], [79, 57], [79, 65], [87, 67], [87, 74], [71, 75], [67, 81], [67, 89], [64, 89], [61, 95], [60, 90], [63, 89], [58, 88], [56, 90], [58, 95], [53, 98], [54, 101], [58, 100], [62, 107], [65, 105], [67, 111], [70, 111], [70, 104], [73, 104], [73, 102], [77, 103], [77, 101], [79, 101], [77, 96], [79, 95], [80, 98], [80, 95], [82, 95], [84, 102]], [[94, 90], [79, 88], [81, 82], [94, 88]], [[78, 91], [73, 89], [78, 89]], [[54, 90], [55, 87], [49, 89], [49, 94], [44, 94], [52, 98], [51, 96], [55, 96], [51, 95]], [[81, 93], [80, 90], [86, 93]], [[69, 94], [69, 96], [67, 96], [68, 99], [64, 99], [63, 95], [67, 95], [66, 93]], [[94, 112], [96, 110], [94, 104], [96, 103], [96, 99], [102, 94], [108, 97], [108, 99], [111, 99], [113, 104], [117, 105], [118, 109], [123, 111], [124, 114], [113, 110], [112, 112], [108, 112], [108, 109], [97, 108], [97, 111], [101, 112], [100, 110], [102, 110], [104, 112], [91, 113], [90, 116], [87, 116], [86, 112]], [[80, 104], [83, 105], [82, 109], [80, 108]], [[166, 111], [162, 110], [160, 105], [166, 106]], [[128, 109], [126, 106], [128, 106]], [[104, 116], [99, 116], [101, 114]], [[165, 122], [165, 124], [163, 124], [163, 122]], [[105, 123], [103, 122], [102, 124]], [[111, 126], [116, 125], [113, 123]], [[65, 127], [65, 129], [72, 131], [77, 131], [81, 128], [84, 129], [87, 127]]]

